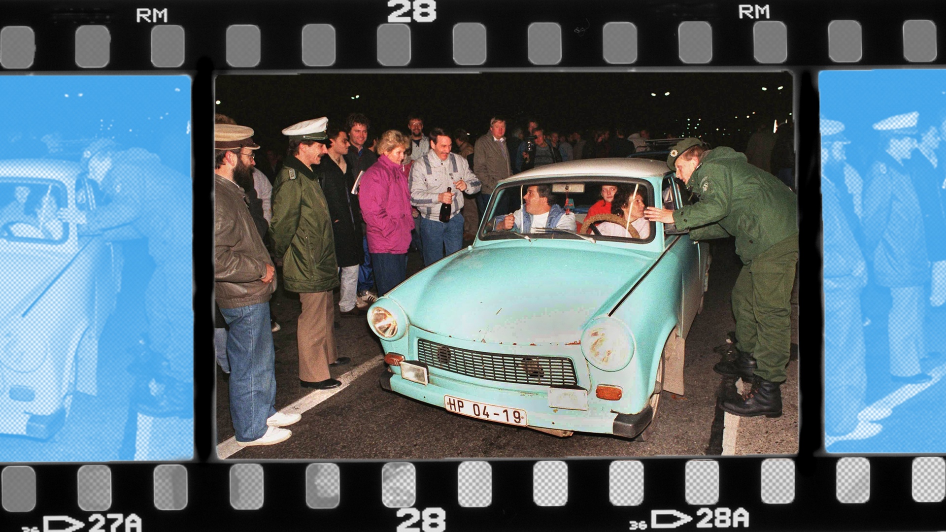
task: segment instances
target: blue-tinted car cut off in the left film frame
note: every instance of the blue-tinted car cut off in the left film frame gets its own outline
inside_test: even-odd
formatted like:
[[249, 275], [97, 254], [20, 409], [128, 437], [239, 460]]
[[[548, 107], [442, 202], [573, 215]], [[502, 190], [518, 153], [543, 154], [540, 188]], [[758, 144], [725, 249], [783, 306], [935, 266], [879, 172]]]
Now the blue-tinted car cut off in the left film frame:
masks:
[[98, 338], [120, 289], [120, 248], [56, 211], [96, 204], [78, 163], [0, 161], [0, 434], [48, 438], [74, 394], [96, 395]]

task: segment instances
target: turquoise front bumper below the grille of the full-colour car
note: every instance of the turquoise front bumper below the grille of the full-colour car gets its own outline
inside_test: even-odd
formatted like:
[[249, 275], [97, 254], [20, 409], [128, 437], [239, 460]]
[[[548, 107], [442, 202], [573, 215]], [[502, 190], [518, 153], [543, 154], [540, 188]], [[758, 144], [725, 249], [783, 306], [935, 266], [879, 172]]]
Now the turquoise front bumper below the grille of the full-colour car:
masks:
[[[385, 367], [380, 375], [380, 384], [385, 390], [440, 408], [445, 408], [445, 395], [519, 408], [526, 411], [529, 426], [560, 431], [634, 437], [640, 434], [654, 417], [650, 406], [645, 407], [638, 414], [618, 414], [595, 408], [588, 410], [552, 408], [548, 403], [548, 394], [542, 391], [525, 392], [482, 386], [450, 379], [444, 375], [432, 375], [429, 383], [424, 385], [402, 379], [399, 368], [396, 369], [396, 373], [392, 373]], [[501, 382], [497, 382], [497, 385], [501, 385]]]

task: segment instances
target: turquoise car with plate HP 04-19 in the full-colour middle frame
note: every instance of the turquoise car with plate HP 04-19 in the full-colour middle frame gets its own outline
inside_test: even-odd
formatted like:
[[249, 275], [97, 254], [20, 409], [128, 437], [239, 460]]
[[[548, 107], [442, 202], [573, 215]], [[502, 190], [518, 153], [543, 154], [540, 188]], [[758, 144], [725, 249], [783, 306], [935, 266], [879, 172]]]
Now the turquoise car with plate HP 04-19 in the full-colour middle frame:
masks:
[[[381, 386], [550, 434], [650, 437], [661, 391], [684, 392], [685, 339], [702, 310], [710, 250], [660, 222], [639, 221], [634, 234], [644, 238], [634, 238], [601, 236], [614, 231], [583, 215], [567, 220], [605, 185], [637, 189], [645, 205], [692, 201], [663, 161], [648, 159], [569, 161], [501, 182], [473, 245], [368, 310], [387, 363]], [[551, 187], [544, 201], [558, 205], [559, 222], [507, 230], [531, 186]], [[568, 228], [578, 223], [581, 233]]]

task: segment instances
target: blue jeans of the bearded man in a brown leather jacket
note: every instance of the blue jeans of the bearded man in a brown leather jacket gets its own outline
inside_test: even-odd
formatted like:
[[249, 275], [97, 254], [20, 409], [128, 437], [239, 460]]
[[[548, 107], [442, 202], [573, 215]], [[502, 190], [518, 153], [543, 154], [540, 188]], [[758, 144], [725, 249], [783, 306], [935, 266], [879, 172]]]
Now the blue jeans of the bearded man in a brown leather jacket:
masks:
[[253, 441], [266, 434], [266, 419], [276, 413], [270, 304], [220, 309], [220, 313], [230, 326], [230, 417], [236, 441]]

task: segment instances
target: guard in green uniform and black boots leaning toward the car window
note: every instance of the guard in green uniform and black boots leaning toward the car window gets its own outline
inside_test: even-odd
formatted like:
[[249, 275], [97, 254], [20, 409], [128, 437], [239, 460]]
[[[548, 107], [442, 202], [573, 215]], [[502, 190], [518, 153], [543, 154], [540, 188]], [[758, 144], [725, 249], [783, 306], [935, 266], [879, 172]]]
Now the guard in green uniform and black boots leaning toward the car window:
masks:
[[752, 387], [722, 407], [737, 416], [781, 416], [798, 260], [796, 195], [774, 175], [750, 165], [743, 153], [707, 150], [696, 138], [678, 142], [667, 166], [700, 201], [676, 210], [647, 207], [644, 217], [690, 229], [694, 240], [733, 236], [744, 264], [732, 289], [736, 360], [713, 369], [751, 379]]

